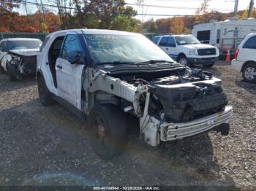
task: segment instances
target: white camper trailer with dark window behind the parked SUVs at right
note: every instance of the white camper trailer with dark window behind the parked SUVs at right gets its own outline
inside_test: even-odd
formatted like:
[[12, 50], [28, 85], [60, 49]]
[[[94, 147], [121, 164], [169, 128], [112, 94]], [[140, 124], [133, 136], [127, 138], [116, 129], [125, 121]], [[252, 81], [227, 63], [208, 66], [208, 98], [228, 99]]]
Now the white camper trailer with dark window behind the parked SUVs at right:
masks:
[[194, 26], [192, 31], [200, 42], [218, 47], [222, 55], [226, 55], [227, 51], [233, 55], [241, 41], [255, 32], [256, 19], [252, 18], [202, 23]]

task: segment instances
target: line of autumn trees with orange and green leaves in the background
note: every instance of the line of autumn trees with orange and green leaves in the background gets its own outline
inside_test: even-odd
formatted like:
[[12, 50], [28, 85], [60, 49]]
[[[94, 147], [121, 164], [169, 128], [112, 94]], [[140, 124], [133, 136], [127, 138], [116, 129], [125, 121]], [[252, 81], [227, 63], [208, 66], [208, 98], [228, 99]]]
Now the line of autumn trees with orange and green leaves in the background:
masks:
[[[211, 20], [225, 20], [231, 13], [207, 12], [208, 1], [197, 9], [195, 16], [169, 17], [148, 20], [141, 23], [135, 19], [137, 12], [125, 4], [124, 0], [51, 0], [57, 14], [50, 12], [49, 4], [37, 4], [34, 14], [20, 15], [15, 12], [21, 5], [27, 10], [22, 0], [0, 0], [0, 32], [49, 33], [69, 28], [105, 28], [121, 31], [135, 31], [155, 34], [190, 34], [198, 23]], [[50, 2], [50, 1], [49, 1]], [[239, 18], [246, 17], [248, 11], [238, 12]], [[252, 17], [256, 17], [255, 9]]]

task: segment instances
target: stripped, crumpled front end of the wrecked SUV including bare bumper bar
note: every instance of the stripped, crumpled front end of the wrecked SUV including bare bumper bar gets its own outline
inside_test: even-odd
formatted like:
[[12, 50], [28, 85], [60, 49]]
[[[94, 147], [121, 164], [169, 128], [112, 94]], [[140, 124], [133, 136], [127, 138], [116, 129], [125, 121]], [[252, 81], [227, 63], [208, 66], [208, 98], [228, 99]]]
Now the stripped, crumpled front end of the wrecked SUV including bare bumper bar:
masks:
[[[140, 121], [140, 136], [153, 147], [160, 141], [229, 128], [226, 124], [233, 109], [227, 106], [221, 80], [207, 72], [179, 69], [116, 77], [89, 69], [88, 74], [89, 81], [83, 87], [89, 90], [86, 97], [91, 101], [87, 103], [111, 103], [135, 115]], [[92, 107], [84, 105], [86, 111]]]

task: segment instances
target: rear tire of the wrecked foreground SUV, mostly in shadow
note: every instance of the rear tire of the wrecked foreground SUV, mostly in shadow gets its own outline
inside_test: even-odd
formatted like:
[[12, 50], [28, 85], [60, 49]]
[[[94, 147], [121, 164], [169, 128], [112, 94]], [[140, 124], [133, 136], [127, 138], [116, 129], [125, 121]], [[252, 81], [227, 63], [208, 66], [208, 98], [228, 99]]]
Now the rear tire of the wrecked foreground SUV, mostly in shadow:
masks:
[[45, 85], [45, 80], [42, 77], [37, 77], [37, 89], [39, 95], [39, 101], [43, 106], [51, 106], [54, 101], [50, 95], [48, 88]]

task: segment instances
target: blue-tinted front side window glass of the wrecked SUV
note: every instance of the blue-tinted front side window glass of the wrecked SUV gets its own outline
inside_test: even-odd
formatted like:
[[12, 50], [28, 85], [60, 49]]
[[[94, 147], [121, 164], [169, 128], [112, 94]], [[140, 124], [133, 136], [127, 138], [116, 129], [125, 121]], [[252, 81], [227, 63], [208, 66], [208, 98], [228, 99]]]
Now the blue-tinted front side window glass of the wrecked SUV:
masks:
[[76, 54], [77, 57], [81, 56], [82, 50], [80, 47], [80, 43], [78, 40], [78, 36], [75, 34], [67, 35], [67, 38], [64, 42], [63, 50], [62, 50], [62, 58], [67, 61], [70, 61], [70, 55]]

